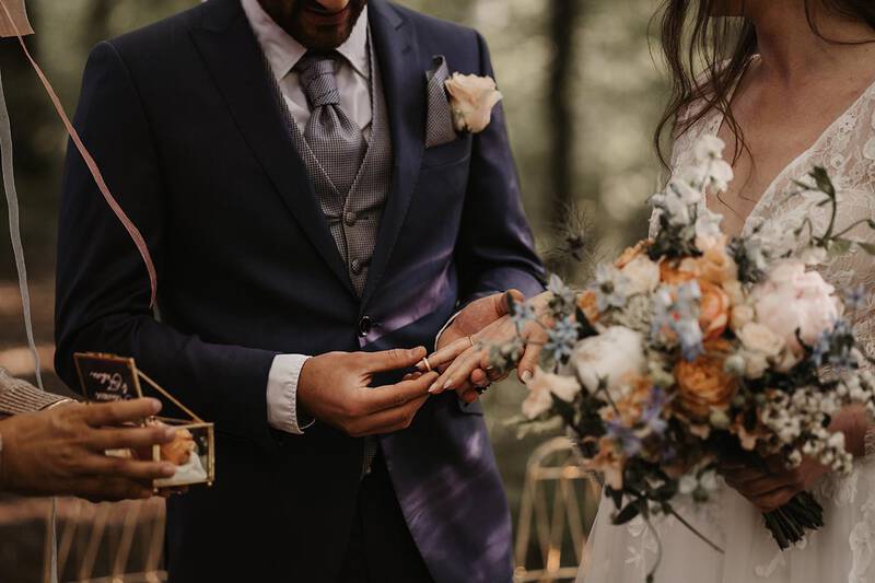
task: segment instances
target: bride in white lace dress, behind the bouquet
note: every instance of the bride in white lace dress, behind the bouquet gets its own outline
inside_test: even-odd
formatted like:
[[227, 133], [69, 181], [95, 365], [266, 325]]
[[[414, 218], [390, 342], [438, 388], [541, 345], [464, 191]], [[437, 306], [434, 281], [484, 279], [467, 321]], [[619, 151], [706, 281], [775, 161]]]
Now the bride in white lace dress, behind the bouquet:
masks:
[[[692, 144], [704, 135], [718, 136], [730, 154], [735, 152], [732, 189], [708, 201], [724, 215], [727, 233], [748, 233], [762, 224], [792, 231], [806, 211], [822, 230], [826, 209], [812, 211], [798, 197], [786, 197], [793, 182], [814, 166], [826, 167], [839, 187], [840, 223], [875, 217], [875, 2], [667, 0], [662, 23], [674, 75], [674, 96], [661, 124], [661, 129], [674, 127], [670, 163], [689, 164]], [[705, 72], [697, 78], [690, 61], [700, 59]], [[875, 242], [865, 226], [851, 233]], [[856, 331], [875, 354], [875, 259], [858, 253], [824, 271], [837, 289], [863, 285], [867, 300], [861, 312], [870, 317], [855, 323]], [[500, 337], [501, 326], [478, 337]], [[506, 333], [509, 325], [503, 326]], [[454, 387], [468, 378], [488, 381], [481, 370], [488, 359], [472, 343], [439, 383]], [[520, 364], [523, 381], [534, 370], [535, 351], [527, 349]], [[455, 355], [451, 348], [430, 360], [436, 364]], [[614, 526], [612, 503], [603, 500], [581, 581], [643, 583], [662, 545], [656, 579], [665, 583], [875, 582], [872, 427], [865, 411], [856, 409], [833, 419], [830, 429], [845, 434], [858, 459], [847, 478], [828, 475], [810, 460], [777, 474], [722, 467], [714, 502], [702, 509], [690, 502], [678, 510], [724, 555], [670, 517], [655, 522], [657, 536], [640, 518]], [[827, 524], [798, 548], [781, 552], [761, 513], [802, 490], [817, 495]]]

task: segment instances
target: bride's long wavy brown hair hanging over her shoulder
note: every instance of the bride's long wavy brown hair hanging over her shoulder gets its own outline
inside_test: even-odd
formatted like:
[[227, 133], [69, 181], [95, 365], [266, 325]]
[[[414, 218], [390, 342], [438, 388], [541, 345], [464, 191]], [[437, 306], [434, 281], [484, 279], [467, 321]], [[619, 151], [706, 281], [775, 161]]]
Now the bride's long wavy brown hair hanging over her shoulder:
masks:
[[[665, 0], [656, 16], [660, 24], [662, 51], [672, 74], [672, 97], [656, 129], [654, 143], [663, 164], [667, 165], [664, 149], [666, 130], [682, 135], [714, 109], [725, 116], [725, 123], [736, 136], [737, 159], [746, 149], [744, 136], [730, 107], [732, 92], [745, 73], [750, 58], [757, 53], [757, 34], [745, 18], [716, 19], [712, 14], [728, 0]], [[812, 30], [817, 28], [817, 7], [832, 10], [848, 19], [866, 23], [875, 31], [873, 0], [800, 0]], [[822, 36], [822, 35], [820, 35]], [[830, 39], [828, 39], [830, 40]], [[697, 75], [696, 67], [704, 63]], [[699, 102], [690, 115], [679, 114]]]

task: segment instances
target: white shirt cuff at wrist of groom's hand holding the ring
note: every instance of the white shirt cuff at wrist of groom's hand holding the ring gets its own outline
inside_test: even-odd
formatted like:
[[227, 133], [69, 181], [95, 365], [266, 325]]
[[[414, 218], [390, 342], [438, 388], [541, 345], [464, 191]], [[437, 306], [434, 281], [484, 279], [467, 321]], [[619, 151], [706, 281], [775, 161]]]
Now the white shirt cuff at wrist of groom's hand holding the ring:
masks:
[[310, 357], [303, 354], [280, 354], [273, 359], [267, 378], [267, 422], [292, 435], [303, 435], [315, 423], [299, 419], [298, 411], [298, 381], [307, 360]]

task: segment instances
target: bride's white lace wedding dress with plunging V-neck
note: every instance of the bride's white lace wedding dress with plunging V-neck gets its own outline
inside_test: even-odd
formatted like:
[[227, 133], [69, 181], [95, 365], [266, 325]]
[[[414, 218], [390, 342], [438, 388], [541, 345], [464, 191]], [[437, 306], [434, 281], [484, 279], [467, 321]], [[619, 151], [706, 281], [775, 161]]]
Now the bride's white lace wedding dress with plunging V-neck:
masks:
[[[716, 135], [723, 116], [712, 113], [678, 139], [673, 167], [691, 162], [692, 144]], [[875, 217], [875, 85], [871, 86], [820, 138], [771, 184], [745, 223], [791, 233], [807, 214], [824, 233], [828, 209], [801, 197], [789, 198], [793, 180], [814, 166], [826, 167], [840, 194], [839, 228]], [[858, 240], [875, 242], [861, 226]], [[865, 287], [865, 308], [856, 318], [863, 346], [875, 354], [875, 258], [856, 250], [835, 260], [824, 276], [839, 290]], [[656, 583], [863, 583], [875, 582], [875, 462], [856, 462], [850, 477], [829, 476], [815, 495], [825, 508], [826, 527], [786, 552], [778, 549], [761, 514], [735, 490], [720, 486], [714, 501], [678, 512], [725, 550], [720, 555], [673, 517], [655, 518], [663, 546]], [[641, 518], [614, 526], [612, 502], [603, 499], [587, 546], [579, 583], [644, 583], [657, 557], [657, 540]]]

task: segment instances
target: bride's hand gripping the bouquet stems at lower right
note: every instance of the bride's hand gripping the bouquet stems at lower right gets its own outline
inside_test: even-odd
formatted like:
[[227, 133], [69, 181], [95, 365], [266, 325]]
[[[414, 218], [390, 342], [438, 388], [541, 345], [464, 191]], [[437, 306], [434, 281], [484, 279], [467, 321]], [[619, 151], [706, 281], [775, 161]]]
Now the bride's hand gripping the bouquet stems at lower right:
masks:
[[748, 499], [760, 511], [778, 510], [800, 492], [808, 491], [829, 468], [805, 457], [797, 468], [788, 469], [782, 456], [766, 460], [768, 468], [756, 468], [736, 462], [726, 462], [719, 467], [726, 483]]

